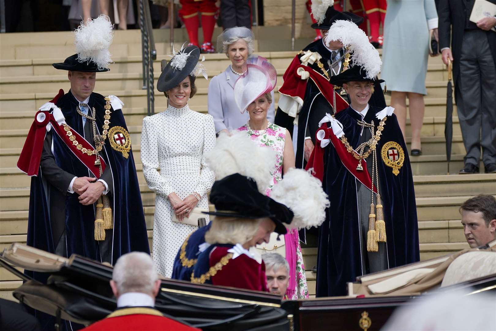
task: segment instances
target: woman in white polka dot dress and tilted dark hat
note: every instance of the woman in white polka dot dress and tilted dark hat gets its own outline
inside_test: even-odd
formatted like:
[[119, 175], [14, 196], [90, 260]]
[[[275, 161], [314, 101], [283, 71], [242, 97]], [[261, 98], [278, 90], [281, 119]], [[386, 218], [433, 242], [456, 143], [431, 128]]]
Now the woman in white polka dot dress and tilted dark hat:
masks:
[[207, 192], [215, 181], [203, 158], [215, 145], [213, 118], [189, 109], [187, 104], [196, 92], [195, 74], [206, 77], [199, 56], [196, 46], [186, 47], [164, 68], [157, 89], [165, 92], [169, 107], [145, 117], [141, 132], [143, 175], [156, 193], [153, 260], [157, 271], [166, 277], [171, 277], [174, 258], [186, 236], [197, 229], [173, 222], [173, 214], [182, 220], [195, 207], [208, 209]]

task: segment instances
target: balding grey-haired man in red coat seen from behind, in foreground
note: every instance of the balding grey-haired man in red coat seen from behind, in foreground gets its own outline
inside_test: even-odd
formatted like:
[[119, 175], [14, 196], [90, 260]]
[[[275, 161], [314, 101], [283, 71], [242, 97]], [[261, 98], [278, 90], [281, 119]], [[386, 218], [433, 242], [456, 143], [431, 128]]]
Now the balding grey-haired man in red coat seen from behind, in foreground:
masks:
[[110, 286], [117, 298], [117, 310], [84, 330], [198, 330], [154, 309], [160, 279], [149, 254], [132, 252], [119, 258]]

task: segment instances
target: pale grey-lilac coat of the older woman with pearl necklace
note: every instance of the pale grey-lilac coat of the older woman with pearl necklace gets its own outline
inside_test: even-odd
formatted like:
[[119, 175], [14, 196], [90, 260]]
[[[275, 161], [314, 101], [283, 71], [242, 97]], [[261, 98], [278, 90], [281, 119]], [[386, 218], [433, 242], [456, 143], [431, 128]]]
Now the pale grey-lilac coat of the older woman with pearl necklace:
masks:
[[[214, 118], [215, 133], [238, 129], [249, 120], [248, 112], [241, 114], [234, 102], [234, 84], [238, 77], [228, 66], [224, 72], [212, 77], [208, 84], [208, 114]], [[267, 111], [267, 120], [274, 123], [274, 91], [270, 95], [272, 104]]]

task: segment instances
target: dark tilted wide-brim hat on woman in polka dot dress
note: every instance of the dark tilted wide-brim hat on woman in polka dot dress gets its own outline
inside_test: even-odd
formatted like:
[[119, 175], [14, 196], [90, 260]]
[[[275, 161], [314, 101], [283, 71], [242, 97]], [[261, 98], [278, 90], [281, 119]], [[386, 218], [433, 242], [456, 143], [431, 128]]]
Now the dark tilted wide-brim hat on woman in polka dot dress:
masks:
[[[186, 65], [181, 69], [171, 65], [174, 58], [178, 56], [179, 53], [189, 54], [186, 59]], [[166, 92], [171, 88], [178, 86], [178, 84], [193, 71], [196, 64], [198, 64], [200, 49], [197, 46], [188, 46], [179, 53], [167, 63], [167, 66], [162, 70], [160, 77], [158, 77], [157, 90], [159, 90], [159, 92]]]

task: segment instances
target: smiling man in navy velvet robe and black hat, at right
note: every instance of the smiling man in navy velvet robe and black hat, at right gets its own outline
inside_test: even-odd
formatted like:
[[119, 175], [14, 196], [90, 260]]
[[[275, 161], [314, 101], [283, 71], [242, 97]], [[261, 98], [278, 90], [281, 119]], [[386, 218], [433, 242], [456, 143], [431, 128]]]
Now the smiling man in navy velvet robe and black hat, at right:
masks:
[[[331, 78], [332, 84], [344, 87], [351, 104], [333, 119], [329, 115], [321, 121], [318, 148], [308, 166], [321, 172], [322, 186], [331, 204], [327, 219], [319, 228], [317, 297], [346, 295], [346, 283], [355, 281], [357, 276], [420, 259], [415, 193], [406, 144], [392, 113], [394, 109], [382, 110], [369, 105], [374, 83], [380, 82], [367, 78], [359, 66]], [[384, 126], [375, 146], [377, 173], [373, 179], [375, 197], [371, 211], [374, 153], [362, 163], [363, 170], [357, 169], [360, 168], [358, 159], [347, 151], [339, 138], [345, 137], [350, 146], [358, 150], [360, 144], [372, 138], [372, 128], [360, 123], [373, 122], [373, 132], [377, 134], [381, 120]], [[367, 240], [372, 229], [370, 214], [376, 216], [377, 175], [387, 240], [378, 242], [378, 249], [373, 252], [368, 250]]]

